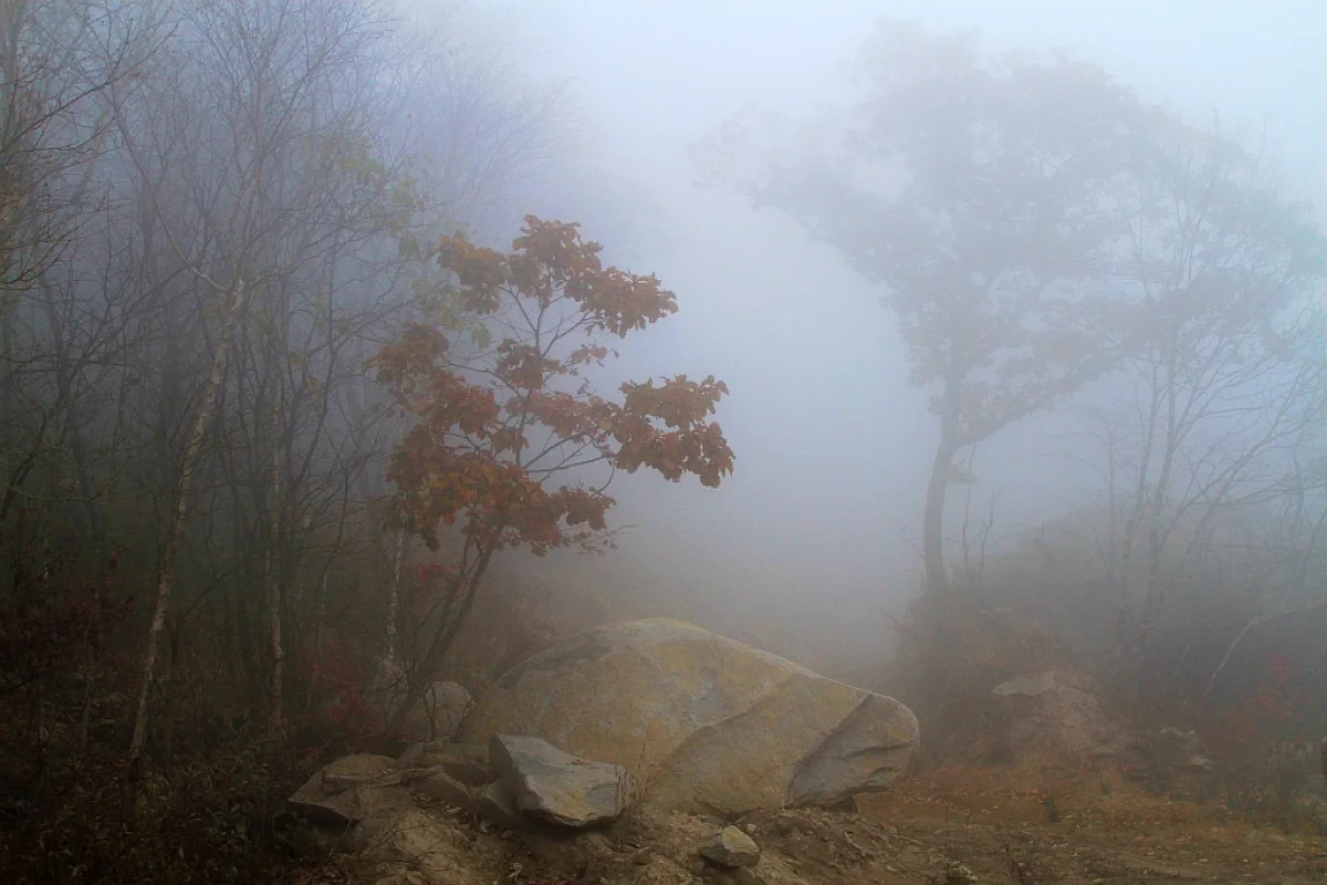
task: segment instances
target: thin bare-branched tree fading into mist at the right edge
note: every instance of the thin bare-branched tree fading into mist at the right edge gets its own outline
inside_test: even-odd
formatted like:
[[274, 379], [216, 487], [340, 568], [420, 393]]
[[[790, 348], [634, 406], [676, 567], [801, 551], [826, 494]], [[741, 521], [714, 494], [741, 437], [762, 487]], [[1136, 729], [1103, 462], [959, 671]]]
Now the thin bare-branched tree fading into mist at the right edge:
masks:
[[1108, 510], [1100, 563], [1119, 596], [1120, 662], [1135, 667], [1170, 588], [1234, 541], [1241, 515], [1281, 536], [1243, 540], [1302, 547], [1318, 510], [1304, 467], [1327, 405], [1312, 300], [1327, 239], [1311, 207], [1231, 133], [1158, 119], [1148, 134], [1123, 203], [1129, 348], [1084, 407], [1101, 447], [1084, 459]]

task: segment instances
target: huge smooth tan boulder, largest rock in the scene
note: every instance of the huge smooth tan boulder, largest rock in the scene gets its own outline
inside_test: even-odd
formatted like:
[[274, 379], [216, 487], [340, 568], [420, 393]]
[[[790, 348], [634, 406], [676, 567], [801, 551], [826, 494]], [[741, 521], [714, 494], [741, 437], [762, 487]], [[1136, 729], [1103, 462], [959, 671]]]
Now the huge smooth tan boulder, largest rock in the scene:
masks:
[[621, 766], [646, 805], [725, 815], [884, 788], [918, 742], [893, 698], [664, 618], [589, 630], [510, 670], [466, 720], [472, 743], [495, 734]]

